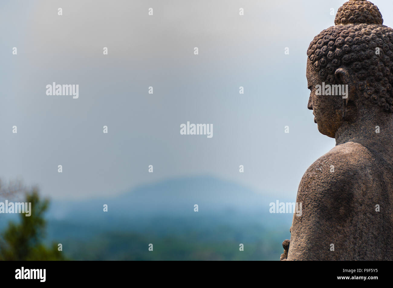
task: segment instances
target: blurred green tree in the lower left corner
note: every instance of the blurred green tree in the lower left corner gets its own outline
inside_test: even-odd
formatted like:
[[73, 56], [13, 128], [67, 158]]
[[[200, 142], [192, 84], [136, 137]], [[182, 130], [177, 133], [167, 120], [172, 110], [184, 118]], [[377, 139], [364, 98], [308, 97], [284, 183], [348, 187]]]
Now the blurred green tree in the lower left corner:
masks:
[[42, 243], [49, 200], [40, 200], [37, 189], [33, 189], [26, 194], [26, 202], [31, 202], [31, 215], [19, 214], [20, 222], [9, 222], [0, 235], [0, 260], [66, 260], [56, 243], [50, 247]]

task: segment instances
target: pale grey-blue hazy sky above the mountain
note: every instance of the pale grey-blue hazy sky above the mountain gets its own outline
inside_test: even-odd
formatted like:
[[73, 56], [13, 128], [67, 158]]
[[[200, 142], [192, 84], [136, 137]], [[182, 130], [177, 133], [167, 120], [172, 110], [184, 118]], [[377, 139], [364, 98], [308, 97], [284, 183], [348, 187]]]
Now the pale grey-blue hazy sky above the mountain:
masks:
[[[305, 67], [343, 2], [1, 1], [0, 176], [59, 199], [200, 174], [296, 197], [335, 145], [307, 110]], [[393, 2], [374, 3], [393, 26]], [[52, 82], [79, 98], [46, 95]], [[187, 121], [213, 137], [180, 135]]]

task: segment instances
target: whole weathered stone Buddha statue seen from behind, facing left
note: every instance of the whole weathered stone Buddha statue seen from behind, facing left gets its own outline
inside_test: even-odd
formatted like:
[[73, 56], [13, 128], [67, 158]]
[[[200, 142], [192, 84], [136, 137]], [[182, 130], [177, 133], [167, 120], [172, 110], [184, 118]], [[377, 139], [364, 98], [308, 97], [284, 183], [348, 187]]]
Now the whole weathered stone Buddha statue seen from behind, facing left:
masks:
[[373, 3], [345, 2], [307, 50], [307, 108], [336, 146], [301, 179], [281, 260], [393, 260], [393, 29], [382, 23]]

